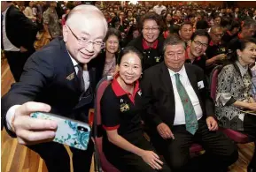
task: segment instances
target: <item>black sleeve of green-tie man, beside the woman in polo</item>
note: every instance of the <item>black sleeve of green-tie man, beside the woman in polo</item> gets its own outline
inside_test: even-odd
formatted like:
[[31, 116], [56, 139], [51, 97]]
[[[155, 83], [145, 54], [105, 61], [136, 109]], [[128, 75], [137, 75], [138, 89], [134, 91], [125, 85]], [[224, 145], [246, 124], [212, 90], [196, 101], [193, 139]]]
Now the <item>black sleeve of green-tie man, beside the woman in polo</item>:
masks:
[[144, 115], [142, 116], [146, 123], [151, 126], [157, 127], [160, 123], [163, 123], [159, 115], [157, 114], [157, 109], [155, 108], [156, 98], [151, 86], [151, 74], [145, 73], [141, 81], [142, 98], [143, 98], [143, 108]]

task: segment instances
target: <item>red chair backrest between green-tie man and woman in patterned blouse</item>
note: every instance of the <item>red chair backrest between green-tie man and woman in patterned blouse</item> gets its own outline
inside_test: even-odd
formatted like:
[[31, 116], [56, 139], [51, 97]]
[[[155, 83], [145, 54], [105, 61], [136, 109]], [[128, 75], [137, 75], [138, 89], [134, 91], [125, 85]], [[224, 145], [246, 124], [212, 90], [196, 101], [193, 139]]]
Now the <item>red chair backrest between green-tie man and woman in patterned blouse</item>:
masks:
[[210, 88], [211, 88], [211, 97], [213, 101], [216, 99], [216, 91], [218, 86], [218, 75], [222, 69], [221, 65], [214, 67], [211, 75], [210, 75]]

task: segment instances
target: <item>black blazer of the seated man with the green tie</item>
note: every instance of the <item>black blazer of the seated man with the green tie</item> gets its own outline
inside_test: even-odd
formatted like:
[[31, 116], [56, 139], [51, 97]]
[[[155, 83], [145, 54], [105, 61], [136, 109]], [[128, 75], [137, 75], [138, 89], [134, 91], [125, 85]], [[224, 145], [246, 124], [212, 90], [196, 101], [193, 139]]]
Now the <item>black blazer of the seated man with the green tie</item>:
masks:
[[[198, 95], [203, 116], [214, 116], [214, 105], [206, 89], [204, 71], [193, 64], [184, 64], [191, 86]], [[198, 82], [204, 81], [205, 87], [198, 89]], [[163, 62], [144, 71], [141, 82], [144, 119], [154, 130], [159, 123], [172, 128], [175, 120], [175, 94], [167, 65]]]

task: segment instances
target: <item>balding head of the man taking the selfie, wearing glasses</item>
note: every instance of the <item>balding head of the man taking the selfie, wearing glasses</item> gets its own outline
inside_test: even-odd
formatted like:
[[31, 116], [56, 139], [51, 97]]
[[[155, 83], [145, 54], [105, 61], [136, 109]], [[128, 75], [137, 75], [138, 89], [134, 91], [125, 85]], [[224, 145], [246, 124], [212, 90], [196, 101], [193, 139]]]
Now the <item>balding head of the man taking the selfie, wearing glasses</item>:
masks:
[[69, 54], [80, 64], [88, 64], [104, 48], [107, 32], [105, 16], [89, 4], [76, 6], [63, 26], [63, 40]]

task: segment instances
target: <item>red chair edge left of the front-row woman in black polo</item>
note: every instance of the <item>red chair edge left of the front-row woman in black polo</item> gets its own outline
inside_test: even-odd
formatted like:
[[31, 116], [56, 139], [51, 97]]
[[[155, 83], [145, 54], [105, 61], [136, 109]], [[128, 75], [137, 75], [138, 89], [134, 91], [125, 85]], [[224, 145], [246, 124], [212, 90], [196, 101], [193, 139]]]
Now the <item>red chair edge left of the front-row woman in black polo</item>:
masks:
[[[117, 168], [114, 168], [112, 164], [106, 160], [105, 154], [102, 150], [102, 136], [99, 135], [101, 130], [101, 113], [100, 113], [100, 101], [105, 92], [105, 88], [111, 83], [111, 78], [104, 78], [97, 84], [96, 98], [95, 98], [95, 111], [94, 111], [94, 141], [97, 156], [96, 166], [102, 168], [105, 172], [120, 172]], [[100, 170], [98, 170], [100, 171]]]

